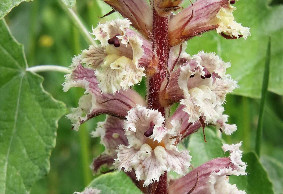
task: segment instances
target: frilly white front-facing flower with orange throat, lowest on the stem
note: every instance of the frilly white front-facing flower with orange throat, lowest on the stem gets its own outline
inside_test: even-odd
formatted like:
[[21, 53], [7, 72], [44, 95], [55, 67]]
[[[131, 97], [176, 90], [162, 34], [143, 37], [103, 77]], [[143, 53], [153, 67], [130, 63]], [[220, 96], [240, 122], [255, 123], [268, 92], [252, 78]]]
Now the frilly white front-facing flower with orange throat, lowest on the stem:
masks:
[[[189, 151], [178, 151], [174, 145], [175, 127], [167, 129], [164, 117], [157, 110], [137, 105], [128, 111], [124, 121], [129, 146], [118, 147], [114, 165], [124, 171], [135, 170], [137, 180], [145, 180], [143, 186], [158, 181], [165, 171], [185, 175], [190, 166]], [[174, 122], [172, 122], [174, 123]]]

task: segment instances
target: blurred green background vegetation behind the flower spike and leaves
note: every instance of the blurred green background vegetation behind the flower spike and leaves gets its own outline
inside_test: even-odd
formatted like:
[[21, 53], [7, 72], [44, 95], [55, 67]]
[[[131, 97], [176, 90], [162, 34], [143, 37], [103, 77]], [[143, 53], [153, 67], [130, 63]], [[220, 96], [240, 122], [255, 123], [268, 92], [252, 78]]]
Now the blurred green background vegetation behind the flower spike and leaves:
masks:
[[[98, 16], [108, 13], [111, 8], [95, 0], [78, 1], [73, 9], [89, 31], [99, 21], [103, 23], [118, 17], [115, 13], [99, 19]], [[29, 66], [50, 64], [68, 67], [72, 57], [88, 47], [57, 0], [23, 2], [5, 19], [16, 40], [24, 45]], [[44, 77], [44, 89], [55, 99], [63, 101], [69, 108], [78, 106], [78, 99], [84, 91], [71, 88], [67, 93], [63, 92], [63, 73], [45, 72], [40, 75]], [[144, 88], [144, 82], [135, 87], [143, 95]], [[241, 148], [244, 151], [254, 150], [260, 99], [230, 94], [226, 100], [224, 113], [230, 116], [228, 123], [236, 124], [238, 130], [231, 136], [223, 135], [223, 138], [227, 143], [243, 141]], [[59, 120], [56, 147], [50, 158], [50, 172], [33, 186], [32, 194], [70, 194], [82, 191], [91, 182], [93, 175], [89, 165], [104, 147], [99, 144], [99, 138], [90, 138], [89, 133], [95, 130], [96, 122], [103, 121], [104, 118], [101, 115], [91, 119], [78, 132], [71, 130], [71, 123], [67, 118]], [[275, 158], [283, 162], [282, 96], [268, 93], [263, 123], [262, 158]]]

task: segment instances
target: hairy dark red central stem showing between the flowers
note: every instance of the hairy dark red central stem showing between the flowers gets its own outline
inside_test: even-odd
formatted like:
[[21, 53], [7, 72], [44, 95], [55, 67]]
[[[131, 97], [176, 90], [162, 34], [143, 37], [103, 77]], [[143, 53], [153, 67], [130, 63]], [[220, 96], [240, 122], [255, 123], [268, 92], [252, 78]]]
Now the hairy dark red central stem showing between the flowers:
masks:
[[[167, 66], [169, 58], [168, 42], [168, 17], [157, 14], [153, 8], [153, 66], [156, 72], [149, 78], [148, 106], [161, 112], [165, 117], [165, 108], [160, 104], [159, 91], [162, 82], [167, 77]], [[154, 192], [155, 194], [167, 194], [167, 172], [159, 177], [159, 181]]]

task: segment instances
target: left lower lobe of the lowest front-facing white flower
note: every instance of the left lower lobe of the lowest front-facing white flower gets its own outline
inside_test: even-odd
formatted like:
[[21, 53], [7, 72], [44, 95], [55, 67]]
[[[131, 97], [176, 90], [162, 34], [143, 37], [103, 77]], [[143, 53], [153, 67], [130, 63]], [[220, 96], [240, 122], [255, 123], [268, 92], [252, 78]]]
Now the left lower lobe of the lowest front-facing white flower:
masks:
[[117, 152], [117, 159], [115, 159], [113, 165], [119, 170], [123, 169], [125, 172], [132, 170], [132, 160], [136, 156], [137, 150], [134, 147], [119, 145]]

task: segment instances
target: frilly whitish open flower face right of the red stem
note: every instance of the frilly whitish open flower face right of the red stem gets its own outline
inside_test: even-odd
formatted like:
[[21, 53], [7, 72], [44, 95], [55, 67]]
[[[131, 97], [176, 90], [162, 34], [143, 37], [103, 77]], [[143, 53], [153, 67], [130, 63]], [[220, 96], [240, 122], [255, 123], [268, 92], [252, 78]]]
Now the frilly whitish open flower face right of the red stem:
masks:
[[228, 67], [230, 63], [225, 63], [215, 53], [203, 51], [193, 55], [191, 61], [181, 67], [178, 84], [184, 93], [181, 104], [190, 115], [189, 123], [200, 117], [204, 117], [205, 123], [213, 124], [219, 119], [225, 120], [223, 111], [218, 109], [225, 102], [226, 94], [237, 87], [237, 82], [225, 74]]

